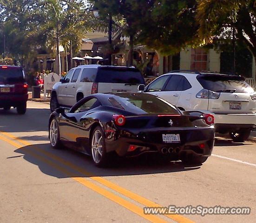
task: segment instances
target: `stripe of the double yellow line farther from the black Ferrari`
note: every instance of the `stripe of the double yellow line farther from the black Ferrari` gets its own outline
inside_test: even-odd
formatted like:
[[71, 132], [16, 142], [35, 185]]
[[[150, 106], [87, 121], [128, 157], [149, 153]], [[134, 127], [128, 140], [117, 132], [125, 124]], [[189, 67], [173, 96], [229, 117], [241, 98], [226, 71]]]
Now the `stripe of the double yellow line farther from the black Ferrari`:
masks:
[[[5, 141], [11, 145], [13, 145], [16, 148], [20, 149], [19, 144], [14, 143], [12, 140], [8, 139], [8, 138], [4, 138], [2, 136], [0, 136], [0, 140]], [[33, 145], [32, 145], [33, 146]], [[57, 169], [58, 171], [64, 173], [67, 177], [72, 178], [73, 180], [77, 181], [79, 184], [84, 185], [85, 187], [97, 192], [98, 194], [101, 194], [102, 196], [112, 200], [115, 203], [118, 203], [119, 205], [125, 207], [128, 210], [131, 210], [132, 212], [138, 214], [139, 216], [142, 216], [143, 218], [147, 219], [148, 221], [152, 222], [152, 223], [167, 223], [164, 219], [159, 218], [158, 216], [154, 216], [154, 215], [145, 215], [144, 211], [142, 208], [138, 207], [137, 205], [125, 200], [122, 197], [119, 197], [118, 195], [113, 194], [112, 192], [105, 190], [104, 188], [101, 188], [100, 186], [93, 184], [92, 182], [86, 180], [83, 177], [72, 177], [72, 172], [68, 171], [66, 169], [64, 169], [63, 167], [59, 166], [58, 164], [54, 163], [53, 161], [46, 159], [38, 154], [36, 154], [35, 152], [26, 150], [27, 153], [33, 157], [36, 157], [37, 159], [39, 159], [40, 161], [52, 166], [53, 168]]]

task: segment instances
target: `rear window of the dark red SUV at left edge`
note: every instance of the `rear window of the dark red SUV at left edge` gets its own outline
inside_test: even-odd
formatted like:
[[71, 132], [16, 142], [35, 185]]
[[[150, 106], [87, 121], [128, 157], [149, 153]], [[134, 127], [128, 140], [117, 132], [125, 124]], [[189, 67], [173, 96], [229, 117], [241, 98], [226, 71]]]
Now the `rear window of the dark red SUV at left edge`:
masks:
[[25, 77], [21, 67], [0, 66], [0, 84], [24, 82]]

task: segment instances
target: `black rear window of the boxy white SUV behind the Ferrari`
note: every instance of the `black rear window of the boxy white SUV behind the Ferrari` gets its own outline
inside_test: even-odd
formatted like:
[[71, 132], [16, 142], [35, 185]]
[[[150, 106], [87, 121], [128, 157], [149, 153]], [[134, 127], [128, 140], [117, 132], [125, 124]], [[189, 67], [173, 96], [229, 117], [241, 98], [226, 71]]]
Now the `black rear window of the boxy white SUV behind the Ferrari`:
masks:
[[95, 82], [101, 83], [122, 83], [122, 84], [145, 84], [138, 69], [127, 67], [101, 67]]

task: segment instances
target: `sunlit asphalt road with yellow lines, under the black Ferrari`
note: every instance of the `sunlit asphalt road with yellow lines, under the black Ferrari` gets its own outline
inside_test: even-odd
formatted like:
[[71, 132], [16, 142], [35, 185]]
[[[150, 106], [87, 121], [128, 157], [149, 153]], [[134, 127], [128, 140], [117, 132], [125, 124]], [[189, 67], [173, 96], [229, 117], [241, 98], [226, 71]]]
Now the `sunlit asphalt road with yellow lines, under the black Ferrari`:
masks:
[[[108, 169], [53, 150], [49, 105], [0, 110], [0, 223], [255, 223], [256, 144], [217, 137], [201, 166], [126, 159]], [[250, 207], [250, 215], [144, 215], [144, 206]]]

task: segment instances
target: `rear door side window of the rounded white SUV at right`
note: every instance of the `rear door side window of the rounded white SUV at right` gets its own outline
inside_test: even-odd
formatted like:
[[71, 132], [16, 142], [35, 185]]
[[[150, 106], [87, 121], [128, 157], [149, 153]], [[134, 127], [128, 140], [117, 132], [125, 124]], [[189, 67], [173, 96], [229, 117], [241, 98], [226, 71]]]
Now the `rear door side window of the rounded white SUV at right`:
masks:
[[164, 91], [185, 91], [189, 88], [191, 88], [191, 85], [184, 76], [172, 75]]

